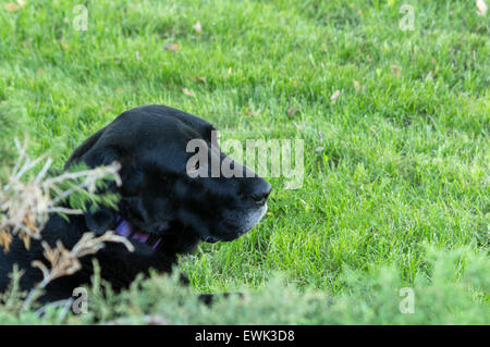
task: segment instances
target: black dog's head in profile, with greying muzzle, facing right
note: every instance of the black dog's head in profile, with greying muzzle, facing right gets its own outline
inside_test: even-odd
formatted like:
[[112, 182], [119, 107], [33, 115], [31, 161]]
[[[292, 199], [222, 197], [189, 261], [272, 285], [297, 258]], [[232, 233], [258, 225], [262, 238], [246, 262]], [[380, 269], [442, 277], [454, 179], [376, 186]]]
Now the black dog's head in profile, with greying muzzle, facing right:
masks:
[[[120, 211], [89, 212], [87, 226], [103, 232], [119, 219], [150, 235], [171, 233], [176, 241], [185, 236], [211, 243], [232, 240], [249, 231], [267, 211], [271, 186], [211, 144], [213, 129], [188, 113], [145, 106], [123, 112], [89, 137], [65, 166], [85, 162], [95, 168], [119, 161], [122, 186], [118, 188]], [[187, 145], [196, 139], [207, 145], [209, 163], [229, 160], [233, 171], [243, 175], [215, 177], [211, 164], [200, 161], [189, 166], [195, 153], [187, 151]], [[196, 177], [195, 171], [209, 174]]]

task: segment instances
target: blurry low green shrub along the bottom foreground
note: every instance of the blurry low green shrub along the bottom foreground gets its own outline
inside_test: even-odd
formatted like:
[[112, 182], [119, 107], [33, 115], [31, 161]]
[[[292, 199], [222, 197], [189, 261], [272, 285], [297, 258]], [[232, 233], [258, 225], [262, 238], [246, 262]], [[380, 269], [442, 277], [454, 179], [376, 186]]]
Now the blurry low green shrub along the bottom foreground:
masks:
[[[370, 274], [345, 269], [345, 293], [329, 295], [318, 289], [298, 290], [277, 274], [257, 292], [244, 297], [218, 298], [212, 306], [201, 303], [176, 276], [152, 274], [114, 294], [96, 275], [88, 289], [88, 313], [62, 317], [60, 308], [44, 317], [13, 310], [19, 296], [13, 292], [9, 306], [0, 306], [0, 321], [12, 324], [488, 324], [490, 322], [490, 261], [468, 249], [428, 249], [430, 274], [413, 284], [401, 280], [394, 267], [379, 267]], [[402, 313], [413, 290], [413, 313]], [[402, 295], [401, 295], [402, 294]], [[12, 293], [11, 293], [12, 295]], [[409, 307], [409, 306], [408, 306]], [[61, 314], [61, 315], [60, 315]]]

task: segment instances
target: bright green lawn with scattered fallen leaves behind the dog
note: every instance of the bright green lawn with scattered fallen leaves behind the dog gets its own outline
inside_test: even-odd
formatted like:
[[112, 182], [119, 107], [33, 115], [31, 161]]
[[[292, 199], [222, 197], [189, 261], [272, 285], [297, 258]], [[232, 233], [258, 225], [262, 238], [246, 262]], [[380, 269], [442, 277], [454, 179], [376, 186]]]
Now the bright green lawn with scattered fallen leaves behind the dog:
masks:
[[[489, 21], [474, 1], [82, 3], [87, 32], [69, 1], [0, 9], [0, 103], [26, 119], [33, 154], [61, 166], [148, 103], [198, 114], [223, 139], [305, 140], [302, 188], [271, 178], [254, 231], [182, 259], [196, 290], [254, 290], [280, 271], [344, 295], [346, 268], [430, 277], [425, 245], [488, 256]], [[404, 3], [415, 30], [399, 28]]]

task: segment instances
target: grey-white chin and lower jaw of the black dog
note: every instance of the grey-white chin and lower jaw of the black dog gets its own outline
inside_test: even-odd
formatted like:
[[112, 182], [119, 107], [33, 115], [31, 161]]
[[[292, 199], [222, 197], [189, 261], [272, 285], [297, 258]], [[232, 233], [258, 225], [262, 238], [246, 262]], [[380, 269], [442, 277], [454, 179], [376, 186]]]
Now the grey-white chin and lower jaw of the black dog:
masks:
[[225, 233], [219, 235], [207, 235], [201, 237], [201, 240], [209, 244], [215, 244], [217, 241], [232, 241], [254, 228], [254, 226], [260, 222], [266, 212], [267, 203], [259, 209], [249, 211], [242, 219], [237, 219], [235, 213], [230, 213], [226, 215], [229, 221], [233, 224], [236, 224], [236, 221], [238, 221], [238, 224], [234, 227], [234, 232], [231, 233], [230, 231], [226, 231]]

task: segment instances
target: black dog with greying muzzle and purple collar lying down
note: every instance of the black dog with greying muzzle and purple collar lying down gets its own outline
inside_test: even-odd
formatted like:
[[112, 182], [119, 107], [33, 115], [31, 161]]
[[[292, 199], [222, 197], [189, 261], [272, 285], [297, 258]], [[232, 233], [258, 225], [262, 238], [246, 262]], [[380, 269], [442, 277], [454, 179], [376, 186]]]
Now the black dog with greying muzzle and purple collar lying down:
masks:
[[[212, 131], [211, 124], [192, 114], [164, 106], [144, 106], [121, 113], [86, 139], [65, 168], [77, 162], [90, 168], [120, 162], [122, 186], [110, 185], [121, 196], [119, 210], [88, 209], [85, 215], [69, 221], [50, 215], [42, 239], [51, 247], [59, 239], [71, 249], [83, 233], [115, 230], [135, 250], [107, 243], [96, 255], [81, 259], [81, 271], [51, 282], [40, 301], [70, 298], [75, 287], [89, 283], [94, 258], [100, 264], [101, 277], [119, 290], [151, 268], [171, 272], [177, 253], [193, 251], [200, 240], [229, 241], [250, 230], [266, 213], [271, 190], [268, 182], [233, 161], [234, 172], [242, 172], [242, 177], [215, 177], [210, 165], [201, 162], [191, 171], [209, 173], [208, 177], [188, 174], [188, 160], [195, 154], [187, 152], [192, 139], [209, 145], [211, 159], [231, 160], [219, 149], [211, 150]], [[22, 289], [40, 282], [41, 272], [30, 265], [33, 260], [47, 263], [39, 241], [33, 241], [26, 250], [23, 241], [14, 238], [9, 252], [0, 251], [0, 293], [10, 282], [8, 274], [14, 263], [25, 271]]]

